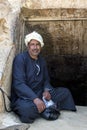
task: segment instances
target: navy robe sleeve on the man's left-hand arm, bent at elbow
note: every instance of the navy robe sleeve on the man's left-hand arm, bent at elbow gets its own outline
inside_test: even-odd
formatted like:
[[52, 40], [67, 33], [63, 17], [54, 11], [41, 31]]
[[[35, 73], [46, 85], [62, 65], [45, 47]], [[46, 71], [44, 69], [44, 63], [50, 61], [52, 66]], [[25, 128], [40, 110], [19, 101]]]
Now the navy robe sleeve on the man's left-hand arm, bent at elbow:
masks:
[[25, 63], [22, 56], [17, 56], [13, 63], [13, 87], [18, 97], [33, 100], [37, 95], [27, 85]]

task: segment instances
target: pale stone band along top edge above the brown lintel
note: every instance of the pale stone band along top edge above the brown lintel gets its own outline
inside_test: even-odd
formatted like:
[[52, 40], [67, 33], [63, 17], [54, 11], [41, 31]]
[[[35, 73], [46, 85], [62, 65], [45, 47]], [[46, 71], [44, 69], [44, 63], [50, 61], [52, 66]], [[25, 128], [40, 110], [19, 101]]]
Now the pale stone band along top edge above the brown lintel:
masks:
[[29, 9], [87, 8], [86, 0], [25, 0], [23, 6]]

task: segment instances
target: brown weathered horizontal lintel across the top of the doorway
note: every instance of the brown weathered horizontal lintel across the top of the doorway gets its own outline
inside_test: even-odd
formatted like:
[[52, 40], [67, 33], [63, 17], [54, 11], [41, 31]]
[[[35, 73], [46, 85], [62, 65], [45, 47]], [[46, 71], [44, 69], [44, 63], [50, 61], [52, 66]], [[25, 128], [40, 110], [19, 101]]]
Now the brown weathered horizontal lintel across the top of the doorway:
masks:
[[87, 9], [62, 8], [62, 9], [28, 9], [23, 7], [21, 15], [29, 21], [56, 21], [56, 20], [85, 20]]

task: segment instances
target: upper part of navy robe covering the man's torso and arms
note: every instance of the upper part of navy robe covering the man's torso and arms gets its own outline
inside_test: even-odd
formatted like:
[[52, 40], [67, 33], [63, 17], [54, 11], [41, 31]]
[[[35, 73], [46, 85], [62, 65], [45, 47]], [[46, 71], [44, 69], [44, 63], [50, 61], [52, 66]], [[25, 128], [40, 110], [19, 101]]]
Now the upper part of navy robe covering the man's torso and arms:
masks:
[[28, 52], [23, 52], [15, 57], [12, 70], [12, 103], [18, 98], [29, 100], [41, 98], [44, 89], [50, 88], [46, 63], [41, 56], [34, 60]]

